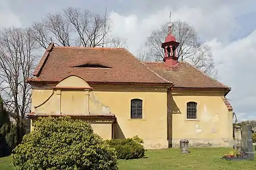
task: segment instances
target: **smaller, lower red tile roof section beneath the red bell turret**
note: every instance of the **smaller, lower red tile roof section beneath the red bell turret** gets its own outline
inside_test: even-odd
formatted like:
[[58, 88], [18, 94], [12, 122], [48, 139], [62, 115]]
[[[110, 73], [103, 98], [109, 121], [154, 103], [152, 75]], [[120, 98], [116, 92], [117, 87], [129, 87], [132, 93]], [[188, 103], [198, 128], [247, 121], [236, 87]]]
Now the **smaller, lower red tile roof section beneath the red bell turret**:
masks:
[[187, 62], [178, 62], [174, 66], [167, 66], [164, 62], [144, 62], [144, 64], [162, 78], [174, 82], [174, 88], [230, 88]]

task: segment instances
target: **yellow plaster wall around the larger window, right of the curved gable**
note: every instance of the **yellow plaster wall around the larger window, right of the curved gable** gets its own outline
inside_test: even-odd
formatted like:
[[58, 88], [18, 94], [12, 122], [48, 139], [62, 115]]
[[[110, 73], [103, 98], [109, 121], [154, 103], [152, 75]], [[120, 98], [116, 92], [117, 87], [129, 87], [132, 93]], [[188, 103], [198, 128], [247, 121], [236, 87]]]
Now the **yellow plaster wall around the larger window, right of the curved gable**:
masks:
[[[151, 90], [100, 90], [94, 95], [110, 108], [117, 117], [114, 138], [131, 138], [138, 135], [144, 147], [167, 148], [167, 92]], [[143, 100], [143, 119], [130, 119], [130, 100]]]

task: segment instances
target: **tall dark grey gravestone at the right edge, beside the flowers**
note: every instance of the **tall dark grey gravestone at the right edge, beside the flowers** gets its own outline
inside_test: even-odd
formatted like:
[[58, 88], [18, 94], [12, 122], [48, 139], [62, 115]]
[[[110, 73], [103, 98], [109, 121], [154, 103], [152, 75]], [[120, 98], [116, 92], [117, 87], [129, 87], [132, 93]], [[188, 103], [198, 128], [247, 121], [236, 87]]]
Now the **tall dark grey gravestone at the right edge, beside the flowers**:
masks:
[[248, 160], [254, 159], [253, 139], [251, 138], [251, 126], [242, 125], [241, 152], [245, 153]]

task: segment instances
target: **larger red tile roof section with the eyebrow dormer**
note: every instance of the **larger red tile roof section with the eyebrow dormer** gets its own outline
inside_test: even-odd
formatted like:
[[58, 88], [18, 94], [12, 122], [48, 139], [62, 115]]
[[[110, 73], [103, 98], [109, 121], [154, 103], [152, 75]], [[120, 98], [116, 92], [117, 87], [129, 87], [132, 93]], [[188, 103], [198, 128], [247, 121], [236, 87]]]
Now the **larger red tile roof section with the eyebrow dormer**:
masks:
[[52, 44], [36, 67], [34, 78], [27, 81], [59, 82], [69, 75], [80, 76], [86, 82], [172, 83], [152, 72], [124, 48], [63, 47]]

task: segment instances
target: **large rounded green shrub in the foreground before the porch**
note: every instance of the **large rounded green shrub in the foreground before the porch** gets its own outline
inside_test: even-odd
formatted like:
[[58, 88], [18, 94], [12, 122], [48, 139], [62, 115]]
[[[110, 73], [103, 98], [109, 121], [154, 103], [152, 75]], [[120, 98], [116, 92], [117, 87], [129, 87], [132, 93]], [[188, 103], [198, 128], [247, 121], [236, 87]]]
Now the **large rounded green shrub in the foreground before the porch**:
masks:
[[39, 118], [12, 154], [17, 169], [117, 169], [113, 148], [85, 121]]

